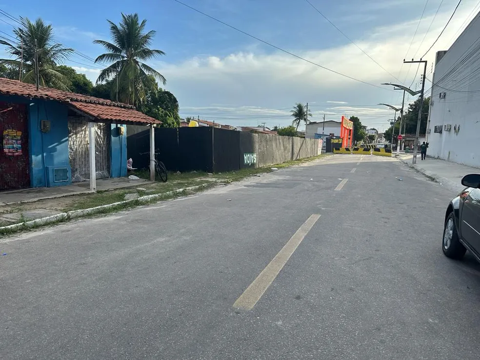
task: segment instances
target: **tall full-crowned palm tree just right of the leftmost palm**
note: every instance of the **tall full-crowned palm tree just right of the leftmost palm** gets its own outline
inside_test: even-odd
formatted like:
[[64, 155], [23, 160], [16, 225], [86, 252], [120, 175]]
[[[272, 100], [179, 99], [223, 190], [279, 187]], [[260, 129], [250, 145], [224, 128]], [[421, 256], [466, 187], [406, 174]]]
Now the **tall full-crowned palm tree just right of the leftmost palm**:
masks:
[[152, 43], [156, 31], [145, 32], [146, 20], [139, 22], [138, 14], [124, 15], [122, 13], [121, 17], [119, 25], [107, 20], [110, 24], [113, 42], [94, 41], [107, 51], [100, 55], [95, 62], [110, 63], [100, 72], [97, 83], [113, 80], [112, 93], [116, 90], [121, 101], [135, 105], [145, 100], [145, 93], [152, 81], [149, 76], [159, 79], [163, 84], [166, 82], [163, 75], [141, 61], [155, 59], [165, 53], [148, 47]]

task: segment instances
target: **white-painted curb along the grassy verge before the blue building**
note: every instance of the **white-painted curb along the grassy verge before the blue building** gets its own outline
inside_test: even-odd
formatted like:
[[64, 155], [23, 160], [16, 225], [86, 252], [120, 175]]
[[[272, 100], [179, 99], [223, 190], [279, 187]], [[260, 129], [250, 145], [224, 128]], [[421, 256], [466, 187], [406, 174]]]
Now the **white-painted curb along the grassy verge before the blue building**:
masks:
[[67, 211], [66, 213], [59, 213], [59, 214], [56, 214], [56, 215], [47, 216], [45, 218], [19, 222], [17, 224], [12, 224], [12, 225], [7, 225], [7, 226], [1, 226], [0, 227], [0, 232], [2, 230], [13, 230], [13, 231], [15, 231], [15, 230], [20, 229], [23, 226], [34, 227], [34, 226], [39, 226], [39, 225], [47, 225], [47, 224], [51, 224], [51, 223], [58, 222], [58, 221], [81, 218], [81, 217], [87, 216], [87, 215], [95, 215], [95, 214], [100, 213], [103, 209], [108, 209], [108, 208], [111, 208], [111, 207], [119, 206], [119, 205], [126, 204], [126, 203], [129, 203], [129, 202], [132, 202], [132, 201], [149, 202], [151, 200], [160, 199], [163, 196], [178, 194], [182, 191], [197, 190], [197, 189], [200, 189], [200, 188], [207, 187], [208, 185], [210, 185], [212, 183], [220, 183], [220, 182], [221, 181], [217, 180], [215, 182], [209, 182], [209, 183], [204, 183], [204, 184], [201, 184], [201, 185], [189, 186], [189, 187], [185, 187], [185, 188], [182, 188], [182, 189], [167, 191], [166, 193], [145, 195], [145, 196], [142, 196], [138, 199], [123, 200], [123, 201], [114, 202], [112, 204], [106, 204], [106, 205], [91, 207], [91, 208], [88, 208], [88, 209]]

